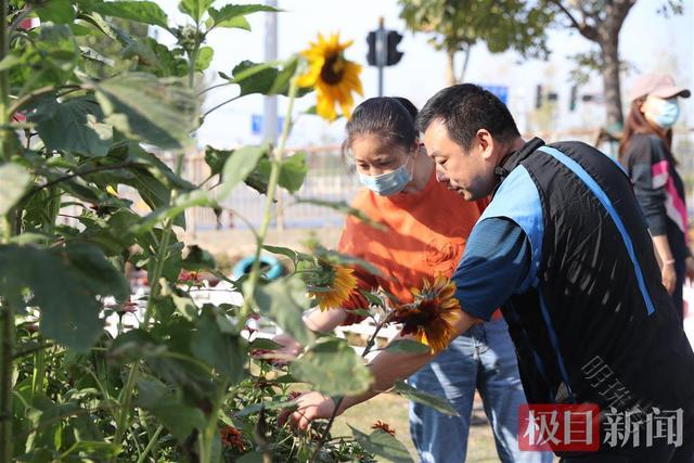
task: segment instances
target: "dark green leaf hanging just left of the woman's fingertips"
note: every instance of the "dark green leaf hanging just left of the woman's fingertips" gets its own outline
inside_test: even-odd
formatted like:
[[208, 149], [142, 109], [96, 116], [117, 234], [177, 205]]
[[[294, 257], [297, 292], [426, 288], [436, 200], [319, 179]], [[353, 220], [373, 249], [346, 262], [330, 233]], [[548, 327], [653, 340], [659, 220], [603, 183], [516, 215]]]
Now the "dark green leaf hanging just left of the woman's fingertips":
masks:
[[214, 366], [233, 384], [243, 377], [245, 348], [241, 336], [223, 333], [211, 310], [203, 311], [191, 338], [195, 357]]

